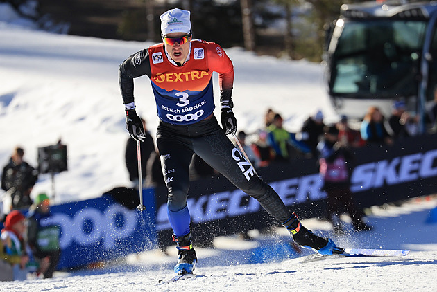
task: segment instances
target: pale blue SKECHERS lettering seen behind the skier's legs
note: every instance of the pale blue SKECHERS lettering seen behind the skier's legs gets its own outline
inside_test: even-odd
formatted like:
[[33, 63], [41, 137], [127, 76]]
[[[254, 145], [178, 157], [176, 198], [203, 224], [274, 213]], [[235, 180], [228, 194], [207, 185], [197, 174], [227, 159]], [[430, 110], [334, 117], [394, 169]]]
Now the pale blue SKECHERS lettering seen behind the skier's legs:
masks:
[[[280, 195], [286, 206], [324, 199], [326, 193], [320, 190], [322, 185], [323, 181], [318, 174], [271, 183], [271, 187]], [[190, 195], [190, 197], [187, 199], [187, 204], [194, 223], [247, 215], [261, 210], [258, 201], [241, 190], [205, 194], [194, 198]], [[163, 203], [157, 211], [156, 221], [158, 231], [171, 228], [166, 203]]]

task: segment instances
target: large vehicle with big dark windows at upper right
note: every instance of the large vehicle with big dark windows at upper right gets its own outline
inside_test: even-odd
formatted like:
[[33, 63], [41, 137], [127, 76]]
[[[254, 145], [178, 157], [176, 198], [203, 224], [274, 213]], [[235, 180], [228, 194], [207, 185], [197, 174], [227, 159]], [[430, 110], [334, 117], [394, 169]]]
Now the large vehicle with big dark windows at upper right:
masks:
[[404, 100], [425, 130], [437, 84], [437, 1], [343, 4], [329, 32], [325, 76], [337, 113], [362, 118], [370, 105], [384, 115]]

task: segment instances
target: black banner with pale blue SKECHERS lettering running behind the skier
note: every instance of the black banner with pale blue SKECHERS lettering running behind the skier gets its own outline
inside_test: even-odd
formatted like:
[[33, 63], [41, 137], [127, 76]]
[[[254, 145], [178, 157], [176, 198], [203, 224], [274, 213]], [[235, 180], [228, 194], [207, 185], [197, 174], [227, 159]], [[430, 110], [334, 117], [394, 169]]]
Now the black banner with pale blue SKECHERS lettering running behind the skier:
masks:
[[[359, 208], [380, 206], [437, 192], [437, 134], [396, 140], [394, 145], [352, 149], [351, 190]], [[297, 158], [257, 170], [300, 217], [325, 216], [326, 193], [316, 158]], [[156, 228], [162, 246], [173, 244], [166, 214], [166, 189], [156, 189]], [[278, 223], [259, 203], [223, 176], [192, 181], [188, 197], [192, 237], [208, 245], [213, 237], [264, 229]]]

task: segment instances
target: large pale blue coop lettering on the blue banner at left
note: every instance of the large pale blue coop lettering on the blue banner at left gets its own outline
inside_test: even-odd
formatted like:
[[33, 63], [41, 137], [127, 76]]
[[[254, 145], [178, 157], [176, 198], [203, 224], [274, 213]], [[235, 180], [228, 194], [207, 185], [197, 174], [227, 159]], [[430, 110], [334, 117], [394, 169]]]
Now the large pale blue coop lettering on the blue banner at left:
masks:
[[[120, 220], [117, 220], [121, 217], [123, 226], [120, 226]], [[117, 239], [128, 237], [135, 231], [137, 217], [134, 211], [114, 203], [104, 212], [96, 208], [81, 209], [72, 218], [62, 213], [55, 213], [53, 217], [42, 221], [42, 224], [60, 226], [61, 248], [67, 248], [73, 242], [80, 246], [91, 246], [103, 238], [105, 249], [111, 249], [114, 248]]]

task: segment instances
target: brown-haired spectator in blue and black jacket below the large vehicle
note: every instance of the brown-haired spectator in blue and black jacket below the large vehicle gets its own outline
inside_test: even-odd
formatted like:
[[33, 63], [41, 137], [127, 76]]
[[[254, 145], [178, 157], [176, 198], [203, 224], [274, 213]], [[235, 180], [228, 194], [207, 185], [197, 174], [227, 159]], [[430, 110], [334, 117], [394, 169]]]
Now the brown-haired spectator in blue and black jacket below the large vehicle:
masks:
[[382, 145], [393, 143], [390, 135], [384, 127], [384, 116], [378, 107], [369, 107], [363, 122], [361, 122], [361, 138], [367, 145]]

